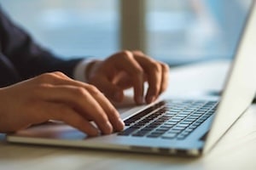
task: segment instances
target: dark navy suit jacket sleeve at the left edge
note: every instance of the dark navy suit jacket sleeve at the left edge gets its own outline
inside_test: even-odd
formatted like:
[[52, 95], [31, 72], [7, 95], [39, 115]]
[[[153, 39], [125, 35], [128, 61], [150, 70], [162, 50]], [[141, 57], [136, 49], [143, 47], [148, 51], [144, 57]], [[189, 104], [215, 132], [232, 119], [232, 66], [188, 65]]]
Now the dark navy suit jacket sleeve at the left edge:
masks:
[[64, 60], [41, 48], [0, 8], [0, 87], [50, 71], [73, 77], [80, 60]]

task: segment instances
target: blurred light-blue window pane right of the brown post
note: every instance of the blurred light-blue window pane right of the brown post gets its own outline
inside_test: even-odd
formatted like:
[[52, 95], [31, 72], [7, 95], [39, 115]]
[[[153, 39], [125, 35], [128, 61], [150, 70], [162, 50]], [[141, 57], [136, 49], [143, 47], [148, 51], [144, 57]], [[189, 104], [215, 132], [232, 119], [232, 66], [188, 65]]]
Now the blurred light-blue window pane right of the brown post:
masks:
[[250, 0], [147, 0], [148, 54], [172, 65], [233, 56]]

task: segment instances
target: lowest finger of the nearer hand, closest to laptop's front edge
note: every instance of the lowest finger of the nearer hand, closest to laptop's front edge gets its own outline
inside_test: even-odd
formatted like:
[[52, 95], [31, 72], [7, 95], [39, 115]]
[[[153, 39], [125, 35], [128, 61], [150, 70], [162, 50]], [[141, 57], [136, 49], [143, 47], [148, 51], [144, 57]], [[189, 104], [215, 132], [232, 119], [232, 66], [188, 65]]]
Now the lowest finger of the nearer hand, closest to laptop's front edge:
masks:
[[89, 136], [98, 135], [98, 130], [90, 122], [84, 120], [83, 116], [73, 111], [67, 105], [43, 102], [40, 104], [44, 110], [39, 110], [38, 115], [44, 116], [44, 120], [55, 120], [66, 122], [68, 125], [78, 128], [80, 131], [88, 134]]

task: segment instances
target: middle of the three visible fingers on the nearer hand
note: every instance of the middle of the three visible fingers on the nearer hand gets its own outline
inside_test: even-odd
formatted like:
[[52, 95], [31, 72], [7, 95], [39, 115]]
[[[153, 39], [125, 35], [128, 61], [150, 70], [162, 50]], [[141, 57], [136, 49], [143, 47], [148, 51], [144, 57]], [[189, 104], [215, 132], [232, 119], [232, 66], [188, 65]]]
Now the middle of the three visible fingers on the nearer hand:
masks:
[[[40, 90], [41, 96], [47, 101], [64, 103], [75, 108], [84, 118], [90, 116], [104, 134], [112, 133], [113, 127], [108, 121], [108, 116], [88, 91], [75, 86], [53, 86]], [[47, 92], [47, 94], [45, 93]]]

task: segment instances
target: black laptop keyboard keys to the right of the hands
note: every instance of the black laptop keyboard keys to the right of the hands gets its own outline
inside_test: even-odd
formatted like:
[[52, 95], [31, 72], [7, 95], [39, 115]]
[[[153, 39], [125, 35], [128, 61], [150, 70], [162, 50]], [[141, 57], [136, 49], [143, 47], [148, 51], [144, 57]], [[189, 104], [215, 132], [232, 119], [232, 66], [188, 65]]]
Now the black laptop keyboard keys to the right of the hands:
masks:
[[185, 139], [212, 116], [217, 101], [165, 100], [125, 120], [121, 136]]

